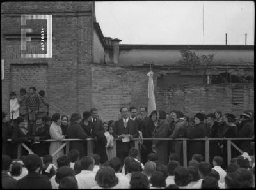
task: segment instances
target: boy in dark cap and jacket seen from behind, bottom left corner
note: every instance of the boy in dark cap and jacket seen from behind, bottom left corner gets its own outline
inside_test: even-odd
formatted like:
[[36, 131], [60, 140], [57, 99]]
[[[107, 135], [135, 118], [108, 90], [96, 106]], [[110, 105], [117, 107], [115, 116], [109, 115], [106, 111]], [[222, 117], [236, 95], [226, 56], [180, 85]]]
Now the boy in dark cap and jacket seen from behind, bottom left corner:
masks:
[[18, 189], [52, 189], [51, 182], [45, 175], [40, 174], [42, 160], [36, 154], [29, 154], [25, 158], [28, 175], [18, 180]]

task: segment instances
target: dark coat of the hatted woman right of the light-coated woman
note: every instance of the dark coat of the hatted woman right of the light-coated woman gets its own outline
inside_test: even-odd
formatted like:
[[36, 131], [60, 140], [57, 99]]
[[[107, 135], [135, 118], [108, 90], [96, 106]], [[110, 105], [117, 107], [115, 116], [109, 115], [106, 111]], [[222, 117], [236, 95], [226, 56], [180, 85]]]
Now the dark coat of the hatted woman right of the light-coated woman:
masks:
[[[79, 139], [87, 139], [90, 138], [88, 136], [80, 124], [77, 124], [76, 122], [71, 122], [71, 124], [68, 126], [67, 129], [67, 136], [68, 138], [79, 138]], [[85, 148], [84, 148], [84, 142], [83, 141], [74, 141], [70, 142], [69, 149], [77, 149], [80, 152], [80, 157], [86, 156]]]

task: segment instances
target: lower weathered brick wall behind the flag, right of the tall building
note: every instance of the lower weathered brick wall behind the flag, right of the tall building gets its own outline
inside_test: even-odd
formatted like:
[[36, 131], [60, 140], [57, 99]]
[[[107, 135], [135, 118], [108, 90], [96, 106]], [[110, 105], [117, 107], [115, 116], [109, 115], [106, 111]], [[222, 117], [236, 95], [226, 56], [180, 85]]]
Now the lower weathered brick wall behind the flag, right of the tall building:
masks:
[[[121, 66], [92, 67], [92, 106], [103, 121], [117, 119], [122, 106], [148, 106], [148, 68]], [[232, 112], [234, 84], [159, 84], [160, 71], [154, 70], [157, 110], [181, 110], [193, 117], [196, 113], [221, 110]], [[253, 84], [244, 85], [244, 109], [254, 109]]]

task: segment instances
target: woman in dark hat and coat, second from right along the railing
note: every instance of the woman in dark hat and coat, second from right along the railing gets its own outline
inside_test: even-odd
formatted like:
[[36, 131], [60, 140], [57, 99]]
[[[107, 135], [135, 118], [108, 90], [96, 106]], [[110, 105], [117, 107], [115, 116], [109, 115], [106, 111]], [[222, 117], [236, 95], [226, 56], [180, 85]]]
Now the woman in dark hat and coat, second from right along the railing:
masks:
[[[233, 115], [232, 113], [226, 113], [224, 115], [224, 121], [225, 121], [225, 128], [224, 131], [221, 135], [221, 138], [236, 138], [237, 136], [237, 126], [235, 124], [236, 122], [236, 117], [235, 115]], [[219, 147], [221, 148], [221, 152], [222, 152], [222, 157], [224, 160], [224, 164], [223, 164], [223, 168], [227, 167], [227, 141], [221, 141], [218, 143]], [[231, 157], [235, 157], [235, 150], [234, 148], [232, 148], [232, 156]]]

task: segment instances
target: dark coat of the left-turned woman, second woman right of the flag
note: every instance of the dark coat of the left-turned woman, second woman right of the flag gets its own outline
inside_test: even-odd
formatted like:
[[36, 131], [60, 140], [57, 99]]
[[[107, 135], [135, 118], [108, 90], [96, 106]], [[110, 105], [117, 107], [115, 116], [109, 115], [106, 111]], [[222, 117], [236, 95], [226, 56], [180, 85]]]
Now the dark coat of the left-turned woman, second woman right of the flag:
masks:
[[[168, 121], [161, 121], [154, 130], [153, 138], [169, 138], [169, 128], [170, 124]], [[169, 142], [154, 140], [153, 144], [156, 145], [159, 162], [166, 165], [169, 159]]]

